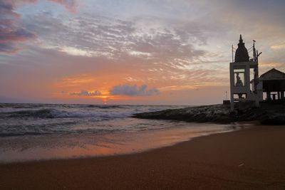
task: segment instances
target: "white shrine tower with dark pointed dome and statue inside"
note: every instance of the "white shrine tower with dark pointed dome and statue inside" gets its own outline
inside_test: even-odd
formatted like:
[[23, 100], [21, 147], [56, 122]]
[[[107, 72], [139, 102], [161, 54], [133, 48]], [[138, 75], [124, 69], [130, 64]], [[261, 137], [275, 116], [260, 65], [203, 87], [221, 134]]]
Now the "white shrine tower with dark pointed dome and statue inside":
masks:
[[[254, 41], [255, 45], [255, 41]], [[231, 110], [234, 105], [238, 107], [256, 106], [259, 107], [259, 100], [262, 98], [262, 87], [259, 84], [258, 57], [260, 53], [253, 45], [253, 58], [249, 58], [247, 48], [244, 46], [242, 35], [239, 37], [238, 48], [233, 56], [232, 63], [229, 63]], [[251, 78], [251, 71], [254, 75]], [[251, 80], [254, 80], [254, 88], [251, 89]]]

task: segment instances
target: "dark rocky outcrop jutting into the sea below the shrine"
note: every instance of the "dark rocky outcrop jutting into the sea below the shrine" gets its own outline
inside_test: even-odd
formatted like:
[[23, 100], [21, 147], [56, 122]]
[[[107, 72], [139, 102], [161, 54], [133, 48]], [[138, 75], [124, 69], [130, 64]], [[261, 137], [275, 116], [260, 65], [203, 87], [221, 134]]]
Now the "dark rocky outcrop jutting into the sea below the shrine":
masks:
[[181, 109], [143, 112], [132, 117], [151, 120], [180, 120], [185, 122], [231, 122], [258, 121], [261, 125], [285, 125], [285, 102], [262, 102], [261, 107], [231, 112], [225, 105], [204, 105]]

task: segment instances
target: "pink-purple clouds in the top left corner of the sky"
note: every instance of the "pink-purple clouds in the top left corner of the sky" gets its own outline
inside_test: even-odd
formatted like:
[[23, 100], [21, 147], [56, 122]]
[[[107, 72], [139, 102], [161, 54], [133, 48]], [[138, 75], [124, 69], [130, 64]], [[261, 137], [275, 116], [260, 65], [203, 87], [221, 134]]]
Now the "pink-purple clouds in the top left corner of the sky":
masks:
[[[48, 0], [62, 4], [73, 11], [75, 0]], [[36, 38], [36, 34], [21, 26], [21, 15], [15, 9], [23, 4], [36, 3], [37, 0], [0, 0], [0, 53], [14, 53], [19, 50], [17, 43]]]

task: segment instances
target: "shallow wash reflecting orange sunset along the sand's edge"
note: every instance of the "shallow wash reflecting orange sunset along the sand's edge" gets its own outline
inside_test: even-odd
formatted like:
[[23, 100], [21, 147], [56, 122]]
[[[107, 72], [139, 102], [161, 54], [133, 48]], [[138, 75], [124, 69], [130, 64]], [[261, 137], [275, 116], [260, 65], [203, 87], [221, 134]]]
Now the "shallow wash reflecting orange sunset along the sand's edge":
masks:
[[[118, 120], [118, 125], [124, 125], [125, 122], [124, 120]], [[168, 124], [174, 125], [175, 122], [168, 122]], [[157, 125], [159, 125], [159, 122], [157, 122]], [[10, 141], [6, 139], [6, 142], [1, 139], [0, 162], [129, 154], [170, 146], [177, 142], [187, 141], [192, 137], [239, 129], [239, 125], [193, 124], [185, 122], [176, 122], [176, 125], [176, 127], [169, 127], [164, 130], [153, 129], [140, 132], [134, 130], [133, 132], [110, 134], [69, 134], [57, 137], [14, 138], [10, 139]], [[2, 147], [9, 143], [15, 146], [6, 149], [5, 154], [3, 154]], [[23, 147], [26, 148], [23, 149]]]

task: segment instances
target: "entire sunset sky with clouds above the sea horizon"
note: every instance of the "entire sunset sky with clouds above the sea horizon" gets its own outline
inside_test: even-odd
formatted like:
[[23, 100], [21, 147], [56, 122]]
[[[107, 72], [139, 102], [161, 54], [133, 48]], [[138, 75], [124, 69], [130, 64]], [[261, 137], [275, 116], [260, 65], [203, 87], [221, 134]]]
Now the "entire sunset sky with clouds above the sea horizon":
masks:
[[257, 41], [260, 74], [285, 72], [284, 7], [283, 0], [0, 0], [0, 102], [221, 103], [239, 34], [247, 48]]

